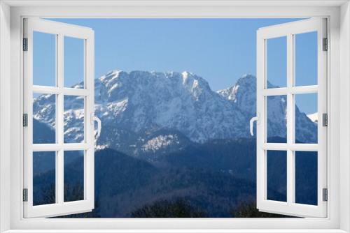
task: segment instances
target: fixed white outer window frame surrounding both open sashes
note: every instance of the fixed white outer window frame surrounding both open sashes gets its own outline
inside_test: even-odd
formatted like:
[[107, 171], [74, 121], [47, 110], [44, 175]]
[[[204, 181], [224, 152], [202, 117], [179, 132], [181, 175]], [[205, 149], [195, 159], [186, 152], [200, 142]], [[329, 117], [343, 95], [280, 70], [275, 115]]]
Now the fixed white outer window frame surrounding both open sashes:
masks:
[[[350, 8], [348, 1], [5, 1], [0, 3], [0, 230], [115, 230], [114, 232], [349, 232], [350, 231]], [[287, 3], [285, 3], [287, 2]], [[7, 4], [13, 7], [7, 6]], [[17, 6], [15, 6], [17, 4]], [[22, 4], [22, 5], [21, 5]], [[25, 6], [27, 4], [27, 6]], [[33, 4], [32, 6], [30, 6]], [[97, 4], [72, 7], [74, 4]], [[114, 4], [115, 6], [103, 6]], [[124, 6], [123, 6], [124, 4]], [[279, 6], [274, 6], [278, 4]], [[70, 5], [70, 6], [68, 6]], [[127, 6], [125, 6], [127, 5]], [[342, 6], [341, 6], [342, 5]], [[10, 12], [10, 14], [9, 14]], [[340, 16], [340, 17], [339, 17]], [[327, 17], [328, 218], [305, 219], [24, 219], [22, 209], [23, 17]], [[9, 23], [10, 22], [10, 23]], [[10, 40], [10, 41], [9, 41]], [[10, 51], [8, 50], [10, 45]], [[5, 51], [5, 52], [4, 52]], [[10, 57], [10, 61], [8, 60]], [[10, 69], [8, 68], [10, 67]], [[10, 77], [10, 79], [8, 79]], [[10, 102], [5, 94], [10, 89]], [[1, 92], [3, 91], [3, 92]], [[7, 96], [8, 98], [8, 96]], [[342, 105], [342, 107], [339, 107]], [[10, 114], [6, 111], [10, 110]], [[10, 124], [8, 121], [10, 120]], [[340, 128], [339, 120], [342, 120]], [[8, 126], [10, 125], [10, 126]], [[3, 129], [8, 129], [5, 133]], [[10, 131], [10, 140], [8, 132]], [[340, 137], [342, 135], [342, 137]], [[10, 143], [10, 149], [4, 144]], [[8, 154], [10, 152], [10, 158]], [[10, 179], [8, 179], [10, 177]], [[10, 203], [8, 200], [10, 199]], [[340, 204], [342, 202], [342, 204]], [[10, 213], [10, 215], [8, 214]], [[96, 230], [99, 228], [99, 230]], [[210, 229], [210, 230], [209, 230]], [[249, 231], [248, 229], [251, 229]], [[95, 231], [94, 231], [95, 230]], [[173, 230], [173, 231], [172, 231]]]

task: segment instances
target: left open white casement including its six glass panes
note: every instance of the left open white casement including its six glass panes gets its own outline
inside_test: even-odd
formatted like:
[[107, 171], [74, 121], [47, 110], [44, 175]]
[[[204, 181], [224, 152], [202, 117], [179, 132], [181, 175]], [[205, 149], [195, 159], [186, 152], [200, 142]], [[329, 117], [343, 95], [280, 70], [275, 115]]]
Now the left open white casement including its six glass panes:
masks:
[[[69, 213], [91, 211], [94, 208], [94, 31], [69, 24], [50, 22], [48, 20], [25, 19], [24, 63], [25, 63], [25, 128], [24, 131], [24, 195], [25, 218], [60, 216]], [[69, 80], [69, 63], [64, 54], [64, 43], [80, 40], [80, 74], [84, 80], [79, 88], [67, 88], [64, 80]], [[67, 45], [66, 45], [67, 47]], [[45, 63], [41, 63], [44, 61]], [[65, 67], [64, 68], [64, 64]], [[38, 78], [45, 69], [45, 82]], [[50, 104], [33, 105], [33, 96], [44, 94]], [[74, 96], [78, 96], [78, 101]], [[76, 103], [78, 102], [78, 103]], [[79, 105], [80, 112], [64, 112]], [[48, 114], [52, 135], [45, 135], [38, 140], [38, 132], [47, 127], [41, 123], [45, 113]], [[70, 114], [79, 114], [80, 131], [73, 132], [76, 140], [66, 140], [64, 128], [69, 125]], [[97, 119], [98, 120], [98, 119]], [[99, 122], [100, 129], [100, 122]], [[83, 157], [83, 172], [76, 174], [75, 183], [79, 182], [83, 195], [66, 198], [66, 166], [64, 160], [71, 157]], [[51, 200], [41, 202], [35, 174], [50, 166], [53, 174], [41, 174], [47, 182], [52, 183]], [[78, 178], [79, 177], [79, 178]]]

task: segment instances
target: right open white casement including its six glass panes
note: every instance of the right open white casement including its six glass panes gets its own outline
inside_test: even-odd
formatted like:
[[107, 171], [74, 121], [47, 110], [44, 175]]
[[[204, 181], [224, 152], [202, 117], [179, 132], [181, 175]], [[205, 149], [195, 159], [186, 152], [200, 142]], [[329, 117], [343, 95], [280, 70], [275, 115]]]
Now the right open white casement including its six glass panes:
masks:
[[[326, 39], [324, 19], [304, 20], [300, 22], [292, 22], [288, 24], [281, 24], [273, 27], [262, 28], [258, 31], [258, 77], [257, 77], [257, 107], [258, 107], [258, 135], [257, 135], [257, 197], [258, 197], [258, 209], [261, 211], [269, 211], [273, 213], [289, 213], [295, 216], [314, 216], [314, 217], [326, 217], [326, 202], [323, 200], [323, 188], [327, 188], [326, 182], [326, 164], [327, 164], [327, 130], [322, 122], [318, 122], [316, 133], [318, 135], [310, 134], [304, 140], [300, 140], [301, 119], [297, 119], [295, 112], [297, 109], [297, 102], [305, 95], [311, 95], [317, 93], [318, 95], [318, 119], [322, 119], [323, 114], [327, 114], [326, 105], [326, 52], [323, 46], [323, 41]], [[311, 43], [317, 45], [318, 55], [314, 57], [317, 59], [316, 70], [316, 83], [312, 85], [300, 85], [302, 82], [307, 82], [306, 70], [301, 70], [298, 65], [300, 62], [298, 59], [298, 52], [300, 53], [300, 38], [305, 36], [306, 33], [315, 33], [314, 40]], [[271, 88], [267, 80], [269, 80], [269, 74], [272, 72], [269, 69], [274, 69], [274, 66], [269, 66], [269, 62], [274, 61], [274, 56], [277, 54], [269, 53], [269, 48], [274, 46], [276, 38], [286, 37], [285, 47], [282, 50], [286, 50], [286, 75], [283, 76], [283, 80], [286, 80], [286, 87]], [[312, 46], [312, 45], [309, 45]], [[279, 50], [279, 53], [282, 51]], [[311, 60], [311, 61], [310, 61]], [[312, 62], [312, 59], [308, 62]], [[311, 66], [309, 66], [310, 68]], [[309, 79], [311, 80], [311, 79]], [[276, 105], [274, 98], [280, 98], [284, 104], [286, 103], [286, 142], [276, 143], [269, 138], [269, 127], [272, 126], [271, 117], [274, 114], [268, 112], [272, 110], [269, 105]], [[304, 100], [310, 101], [311, 98], [304, 97]], [[269, 107], [267, 107], [269, 106]], [[304, 141], [301, 144], [300, 141]], [[305, 143], [306, 142], [306, 143]], [[308, 152], [306, 152], [308, 151]], [[311, 152], [313, 151], [313, 152]], [[314, 158], [313, 158], [314, 157]], [[279, 160], [281, 166], [285, 167], [286, 172], [283, 174], [274, 174], [273, 170], [276, 167], [269, 166], [271, 160]], [[316, 203], [300, 202], [300, 192], [298, 189], [298, 183], [300, 182], [299, 173], [302, 170], [302, 161], [309, 161], [307, 164], [311, 167], [313, 164], [314, 173], [317, 175], [317, 192], [314, 195], [317, 196]], [[311, 161], [313, 160], [313, 162]], [[307, 163], [307, 162], [304, 162]], [[306, 164], [304, 164], [306, 165]], [[315, 169], [317, 168], [317, 170]], [[274, 174], [271, 176], [270, 174]], [[311, 174], [312, 176], [312, 174]], [[277, 181], [282, 183], [282, 189], [286, 192], [286, 200], [276, 199], [269, 194], [267, 187], [269, 183], [275, 182], [274, 180], [283, 179], [283, 181]], [[304, 176], [304, 180], [308, 179]], [[306, 194], [304, 194], [306, 195]]]

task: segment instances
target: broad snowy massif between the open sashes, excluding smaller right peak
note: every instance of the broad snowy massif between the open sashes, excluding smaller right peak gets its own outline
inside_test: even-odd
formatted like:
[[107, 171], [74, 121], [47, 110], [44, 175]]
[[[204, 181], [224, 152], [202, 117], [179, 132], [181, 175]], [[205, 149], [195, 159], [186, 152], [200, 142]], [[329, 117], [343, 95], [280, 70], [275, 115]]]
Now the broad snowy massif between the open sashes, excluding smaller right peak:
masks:
[[[105, 125], [139, 132], [144, 128], [172, 128], [195, 142], [235, 137], [243, 119], [237, 107], [193, 73], [110, 72], [99, 78], [97, 93], [104, 105], [96, 114]], [[248, 135], [248, 133], [246, 133]]]

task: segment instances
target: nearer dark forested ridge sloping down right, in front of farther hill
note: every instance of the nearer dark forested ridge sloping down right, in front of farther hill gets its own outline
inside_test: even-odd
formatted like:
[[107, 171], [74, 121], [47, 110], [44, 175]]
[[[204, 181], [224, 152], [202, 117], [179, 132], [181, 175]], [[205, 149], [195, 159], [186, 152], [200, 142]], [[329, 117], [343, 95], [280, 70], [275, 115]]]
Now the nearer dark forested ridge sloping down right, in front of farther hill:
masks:
[[[237, 142], [228, 142], [226, 146], [232, 143]], [[204, 148], [201, 146], [210, 145], [204, 143], [198, 146], [200, 146], [198, 149], [202, 150]], [[252, 147], [249, 140], [241, 146], [242, 149], [246, 147], [249, 149]], [[216, 144], [214, 148], [220, 150], [224, 146], [221, 143]], [[184, 150], [184, 154], [188, 154], [188, 151]], [[204, 157], [212, 159], [214, 151]], [[251, 162], [248, 167], [253, 169], [256, 155], [253, 150], [251, 151], [252, 153], [246, 153], [246, 159]], [[99, 150], [94, 154], [94, 158], [94, 191], [96, 203], [99, 204], [94, 211], [97, 211], [97, 215], [102, 218], [128, 218], [132, 211], [144, 204], [177, 197], [200, 206], [210, 217], [228, 218], [232, 208], [239, 202], [255, 197], [255, 181], [239, 178], [235, 174], [211, 167], [174, 166], [160, 169], [144, 160], [132, 158], [113, 149]], [[230, 165], [235, 166], [233, 163]], [[69, 172], [64, 174], [64, 183], [66, 186], [69, 184], [74, 187], [76, 182], [82, 179], [79, 175], [83, 174], [83, 157], [76, 158], [66, 165], [65, 169]], [[47, 195], [45, 190], [52, 186], [50, 182], [55, 182], [55, 170], [34, 176], [36, 184], [34, 200], [45, 200]], [[286, 198], [273, 188], [269, 188], [269, 193], [274, 200]]]

